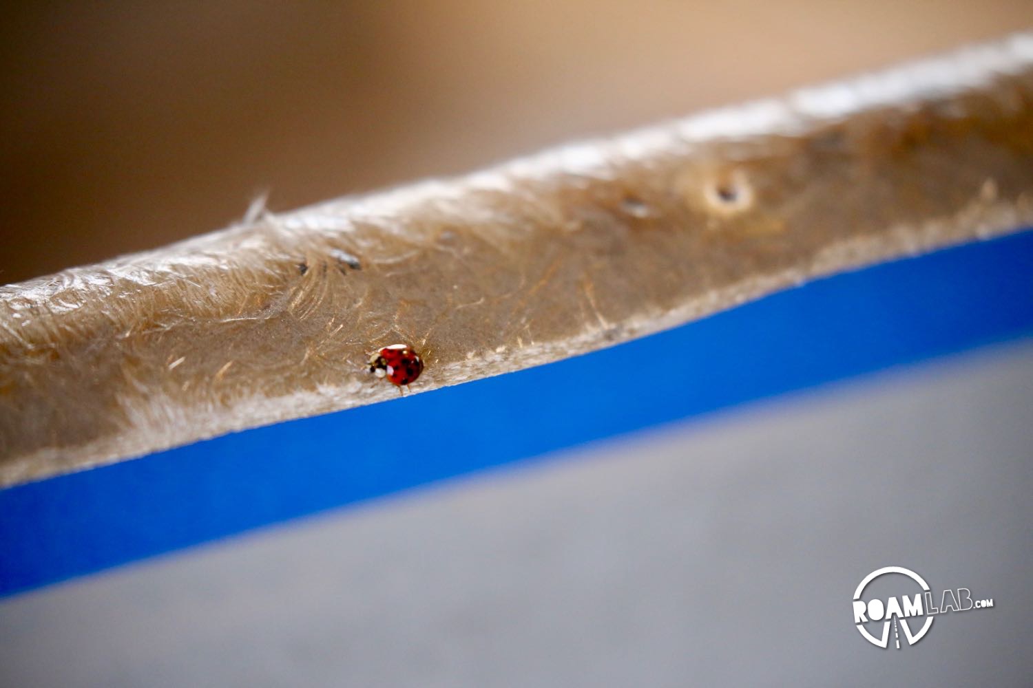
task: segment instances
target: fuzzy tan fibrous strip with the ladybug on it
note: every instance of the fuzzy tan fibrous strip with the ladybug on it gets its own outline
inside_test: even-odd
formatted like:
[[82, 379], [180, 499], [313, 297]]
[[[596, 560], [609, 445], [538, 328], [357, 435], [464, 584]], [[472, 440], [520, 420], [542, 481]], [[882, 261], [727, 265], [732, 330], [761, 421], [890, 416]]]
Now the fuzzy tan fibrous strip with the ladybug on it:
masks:
[[609, 346], [1033, 222], [1033, 35], [0, 292], [0, 483]]

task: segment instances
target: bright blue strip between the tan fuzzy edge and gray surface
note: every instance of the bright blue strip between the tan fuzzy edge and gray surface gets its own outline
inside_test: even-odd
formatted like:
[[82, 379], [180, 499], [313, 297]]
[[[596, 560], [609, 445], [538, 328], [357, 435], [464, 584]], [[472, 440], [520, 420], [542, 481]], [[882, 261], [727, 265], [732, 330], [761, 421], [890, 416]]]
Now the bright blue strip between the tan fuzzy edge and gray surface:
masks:
[[1033, 232], [822, 280], [588, 356], [0, 491], [0, 594], [1033, 332]]

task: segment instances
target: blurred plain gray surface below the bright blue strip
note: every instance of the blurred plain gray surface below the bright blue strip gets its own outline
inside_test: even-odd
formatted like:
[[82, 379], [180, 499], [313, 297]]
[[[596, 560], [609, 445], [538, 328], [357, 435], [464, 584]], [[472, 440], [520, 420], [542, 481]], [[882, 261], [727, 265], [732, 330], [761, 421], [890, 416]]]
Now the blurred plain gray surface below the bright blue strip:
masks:
[[[1033, 343], [587, 447], [0, 604], [8, 686], [1029, 685]], [[902, 651], [913, 568], [993, 610]]]

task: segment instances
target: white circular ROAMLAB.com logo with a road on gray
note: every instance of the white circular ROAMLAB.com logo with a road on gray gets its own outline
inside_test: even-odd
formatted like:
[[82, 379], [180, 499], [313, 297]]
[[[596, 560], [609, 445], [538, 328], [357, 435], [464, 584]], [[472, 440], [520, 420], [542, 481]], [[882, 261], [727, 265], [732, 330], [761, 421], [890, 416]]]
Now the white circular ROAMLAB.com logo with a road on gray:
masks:
[[[972, 599], [969, 588], [936, 593], [913, 570], [885, 566], [866, 576], [854, 591], [853, 623], [865, 640], [883, 650], [889, 647], [891, 626], [894, 644], [900, 650], [902, 630], [907, 645], [914, 645], [926, 637], [937, 616], [992, 607], [992, 598]], [[872, 630], [876, 631], [874, 635]]]

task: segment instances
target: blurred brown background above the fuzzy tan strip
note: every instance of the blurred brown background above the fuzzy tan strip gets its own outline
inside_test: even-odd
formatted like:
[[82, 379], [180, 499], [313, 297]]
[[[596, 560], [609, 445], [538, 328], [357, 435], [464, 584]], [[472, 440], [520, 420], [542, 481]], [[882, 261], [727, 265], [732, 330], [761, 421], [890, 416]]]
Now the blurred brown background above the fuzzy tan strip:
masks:
[[1033, 26], [1029, 0], [7, 3], [0, 283]]

